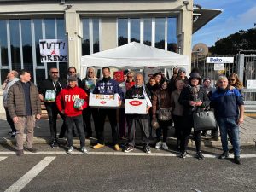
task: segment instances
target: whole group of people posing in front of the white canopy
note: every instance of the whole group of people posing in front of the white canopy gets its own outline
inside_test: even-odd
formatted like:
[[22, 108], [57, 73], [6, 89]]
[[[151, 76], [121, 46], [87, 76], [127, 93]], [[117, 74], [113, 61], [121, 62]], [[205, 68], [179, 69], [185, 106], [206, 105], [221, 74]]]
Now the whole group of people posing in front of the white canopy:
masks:
[[[53, 67], [49, 69], [49, 78], [35, 86], [30, 82], [30, 73], [21, 70], [18, 74], [10, 71], [6, 82], [3, 84], [3, 105], [6, 110], [7, 121], [12, 129], [11, 135], [16, 136], [18, 151], [23, 154], [23, 133], [27, 129], [27, 150], [36, 152], [32, 147], [32, 136], [35, 119], [41, 115], [41, 101], [44, 102], [49, 116], [49, 130], [51, 136], [50, 146], [59, 145], [59, 139], [67, 134], [67, 153], [73, 151], [73, 136], [75, 128], [79, 133], [81, 151], [86, 154], [85, 137], [92, 137], [91, 116], [94, 120], [97, 143], [92, 148], [105, 146], [104, 125], [108, 116], [112, 130], [113, 148], [119, 151], [119, 138], [127, 137], [128, 142], [125, 153], [135, 148], [136, 129], [139, 126], [144, 144], [144, 151], [151, 153], [149, 139], [154, 137], [154, 125], [158, 122], [159, 128], [155, 129], [155, 148], [168, 149], [168, 127], [174, 123], [177, 137], [177, 150], [180, 157], [185, 158], [189, 137], [194, 126], [193, 113], [204, 110], [214, 110], [218, 122], [221, 142], [224, 153], [220, 159], [229, 156], [228, 138], [234, 148], [234, 157], [237, 164], [241, 164], [239, 146], [239, 125], [243, 122], [243, 97], [242, 84], [236, 73], [231, 73], [227, 78], [220, 76], [217, 84], [211, 86], [209, 78], [201, 79], [201, 73], [193, 69], [186, 76], [184, 67], [174, 68], [171, 79], [166, 79], [162, 73], [152, 75], [148, 83], [144, 82], [143, 73], [126, 71], [123, 82], [111, 78], [109, 67], [102, 67], [102, 79], [96, 78], [93, 67], [87, 69], [86, 77], [79, 79], [75, 67], [69, 67], [67, 79], [59, 78], [59, 71]], [[45, 98], [47, 91], [55, 91], [55, 99]], [[91, 108], [89, 95], [119, 94], [119, 126], [116, 108]], [[74, 106], [77, 99], [83, 100], [79, 107]], [[144, 99], [147, 101], [146, 114], [125, 114], [125, 99]], [[168, 108], [172, 112], [172, 119], [160, 120], [160, 108]], [[63, 119], [61, 131], [58, 136], [56, 129], [57, 115]], [[218, 140], [218, 126], [212, 130], [212, 138]], [[128, 129], [127, 129], [128, 128]], [[201, 134], [206, 132], [193, 131], [196, 156], [203, 159], [201, 153]]]

